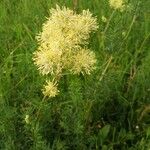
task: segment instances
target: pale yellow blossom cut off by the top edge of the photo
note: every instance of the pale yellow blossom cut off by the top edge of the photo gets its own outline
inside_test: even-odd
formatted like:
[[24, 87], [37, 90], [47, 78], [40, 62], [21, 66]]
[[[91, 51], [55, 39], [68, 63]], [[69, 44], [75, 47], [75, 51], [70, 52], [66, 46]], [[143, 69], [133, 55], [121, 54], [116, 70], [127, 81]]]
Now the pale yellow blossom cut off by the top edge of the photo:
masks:
[[124, 9], [124, 0], [109, 0], [109, 5], [113, 9], [118, 9], [120, 11], [123, 11]]

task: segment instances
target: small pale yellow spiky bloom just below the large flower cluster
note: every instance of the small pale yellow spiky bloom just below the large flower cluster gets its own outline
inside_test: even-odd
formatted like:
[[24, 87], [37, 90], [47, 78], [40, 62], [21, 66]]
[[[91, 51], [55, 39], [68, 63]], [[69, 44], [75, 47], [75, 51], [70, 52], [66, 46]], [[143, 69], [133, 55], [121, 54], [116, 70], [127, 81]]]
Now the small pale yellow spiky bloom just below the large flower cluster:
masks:
[[46, 81], [46, 85], [43, 88], [43, 94], [48, 97], [55, 97], [58, 95], [59, 90], [57, 89], [57, 84], [52, 81]]

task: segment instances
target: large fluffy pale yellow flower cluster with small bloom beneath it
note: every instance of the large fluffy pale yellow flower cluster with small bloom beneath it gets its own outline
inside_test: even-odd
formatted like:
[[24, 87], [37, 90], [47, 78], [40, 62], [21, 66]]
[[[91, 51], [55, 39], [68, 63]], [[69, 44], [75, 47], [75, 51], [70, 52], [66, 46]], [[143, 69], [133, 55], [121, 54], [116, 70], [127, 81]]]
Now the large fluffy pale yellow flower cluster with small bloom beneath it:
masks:
[[[50, 10], [50, 17], [36, 37], [38, 49], [34, 52], [34, 64], [42, 75], [51, 75], [55, 82], [65, 71], [90, 74], [96, 58], [86, 45], [90, 33], [97, 29], [97, 19], [89, 10], [76, 14], [69, 8], [56, 6]], [[55, 87], [52, 82], [47, 82], [43, 94], [54, 97], [58, 93]]]

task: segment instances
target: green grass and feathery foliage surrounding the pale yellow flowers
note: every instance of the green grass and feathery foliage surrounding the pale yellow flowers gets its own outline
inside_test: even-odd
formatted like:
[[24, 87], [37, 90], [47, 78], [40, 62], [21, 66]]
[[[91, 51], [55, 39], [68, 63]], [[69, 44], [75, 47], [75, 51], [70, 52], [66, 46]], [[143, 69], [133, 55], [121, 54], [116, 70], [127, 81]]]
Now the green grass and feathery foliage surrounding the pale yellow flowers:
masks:
[[73, 2], [0, 1], [0, 149], [150, 149], [150, 1], [128, 3], [114, 12], [107, 0], [78, 1], [78, 12], [89, 9], [98, 18], [89, 45], [97, 70], [65, 76], [59, 96], [42, 102], [35, 35], [51, 7]]

